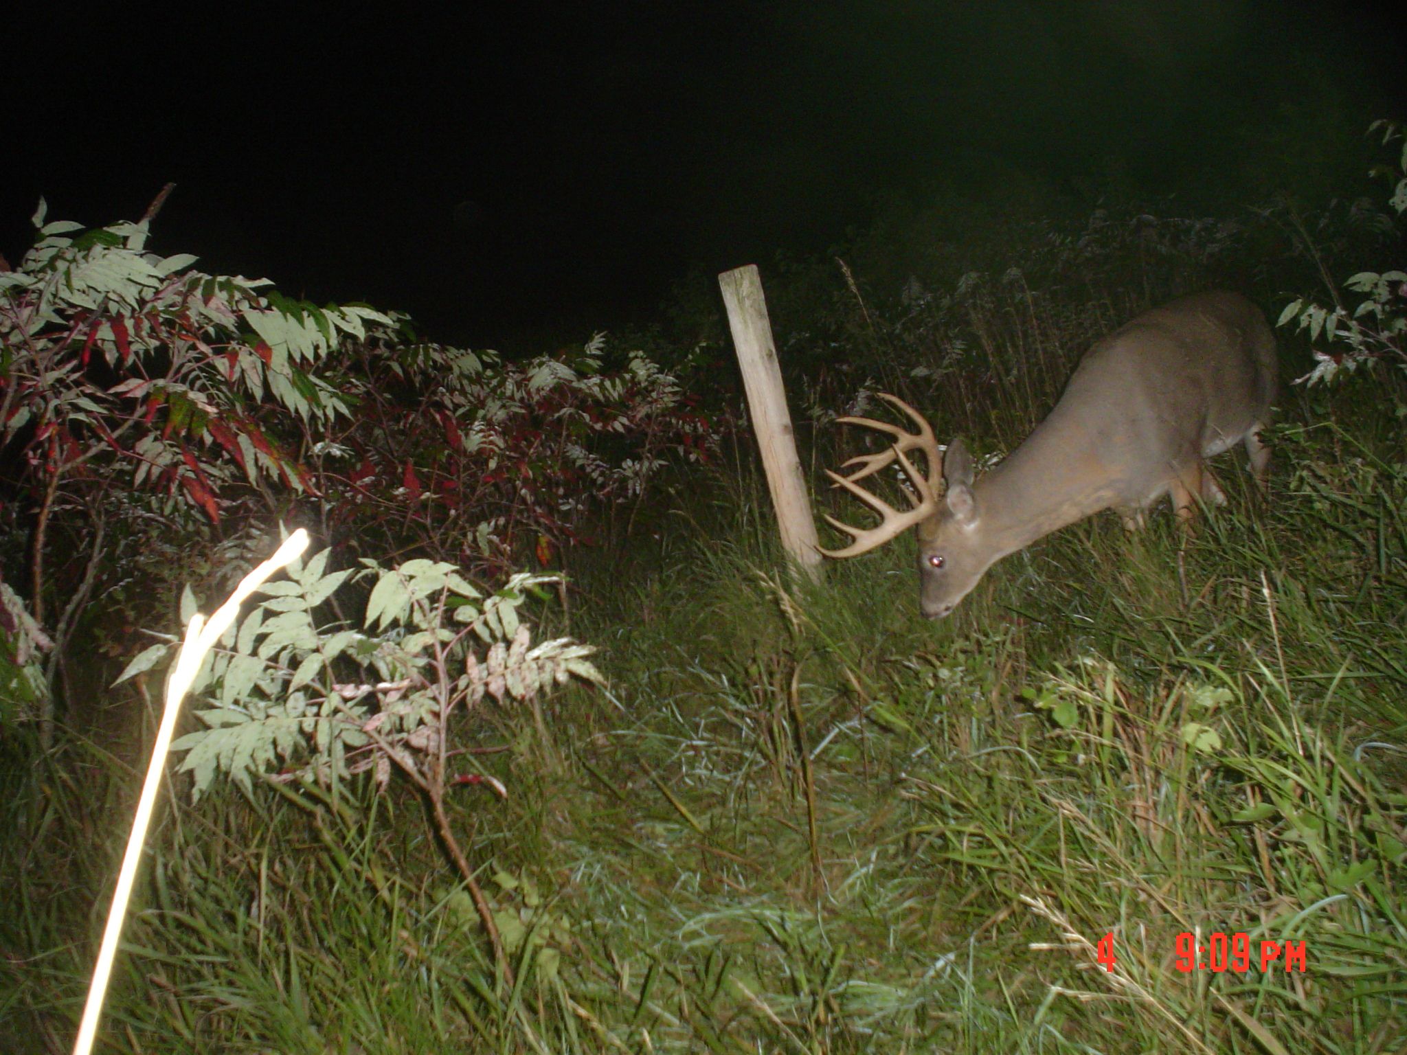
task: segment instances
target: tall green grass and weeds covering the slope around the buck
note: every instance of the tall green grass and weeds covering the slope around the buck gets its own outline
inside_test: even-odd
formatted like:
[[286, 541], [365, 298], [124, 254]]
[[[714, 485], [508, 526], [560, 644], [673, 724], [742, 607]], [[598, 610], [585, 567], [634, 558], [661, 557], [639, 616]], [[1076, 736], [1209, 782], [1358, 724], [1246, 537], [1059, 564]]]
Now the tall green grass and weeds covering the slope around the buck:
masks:
[[[784, 270], [808, 466], [879, 388], [996, 457], [1140, 308], [1233, 283], [1276, 311], [1313, 273], [1265, 224], [1017, 225], [981, 248], [1009, 270], [902, 290], [875, 243]], [[1369, 228], [1316, 250], [1359, 270]], [[789, 580], [725, 443], [574, 551], [570, 626], [536, 615], [609, 685], [466, 730], [507, 788], [450, 809], [511, 983], [411, 788], [218, 785], [163, 807], [103, 1049], [1400, 1051], [1407, 390], [1380, 363], [1279, 407], [1269, 502], [1223, 468], [1193, 539], [1093, 518], [937, 625], [906, 540]], [[66, 1049], [135, 793], [135, 753], [80, 733], [0, 741], [4, 1051]], [[1182, 971], [1189, 933], [1254, 962]]]

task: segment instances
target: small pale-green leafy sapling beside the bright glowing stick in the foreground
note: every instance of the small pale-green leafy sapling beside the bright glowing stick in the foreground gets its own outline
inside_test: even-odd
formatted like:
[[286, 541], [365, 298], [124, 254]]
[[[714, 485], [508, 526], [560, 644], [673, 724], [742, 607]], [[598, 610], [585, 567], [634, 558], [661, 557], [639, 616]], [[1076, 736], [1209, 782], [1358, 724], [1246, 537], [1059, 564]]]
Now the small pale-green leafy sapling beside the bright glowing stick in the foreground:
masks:
[[[250, 791], [253, 778], [315, 781], [338, 793], [370, 774], [378, 791], [400, 771], [426, 796], [435, 829], [464, 881], [495, 958], [511, 976], [494, 914], [445, 809], [445, 793], [490, 776], [449, 772], [452, 719], [485, 696], [498, 703], [535, 702], [573, 678], [602, 682], [587, 658], [592, 648], [570, 639], [532, 643], [519, 608], [553, 575], [516, 574], [485, 596], [454, 565], [411, 560], [386, 568], [328, 571], [329, 550], [288, 567], [288, 581], [260, 588], [265, 599], [232, 623], [200, 667], [191, 691], [208, 706], [204, 729], [180, 737], [180, 771], [193, 776], [191, 798], [217, 776]], [[315, 609], [352, 580], [370, 581], [360, 629], [318, 626]], [[187, 591], [183, 618], [196, 610]], [[173, 644], [136, 656], [124, 681], [160, 664]]]

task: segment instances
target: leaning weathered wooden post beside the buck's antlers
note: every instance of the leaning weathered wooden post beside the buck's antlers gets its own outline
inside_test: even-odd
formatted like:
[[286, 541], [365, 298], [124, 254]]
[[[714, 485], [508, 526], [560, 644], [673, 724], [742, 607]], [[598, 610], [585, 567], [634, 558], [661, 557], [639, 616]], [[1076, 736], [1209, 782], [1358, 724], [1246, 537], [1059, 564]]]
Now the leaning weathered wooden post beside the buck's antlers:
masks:
[[763, 452], [767, 488], [772, 494], [782, 547], [812, 581], [820, 578], [816, 523], [810, 519], [810, 498], [796, 457], [796, 437], [787, 412], [787, 391], [777, 363], [777, 345], [767, 318], [763, 280], [756, 264], [723, 271], [718, 277], [733, 331], [737, 364], [743, 369], [747, 412]]

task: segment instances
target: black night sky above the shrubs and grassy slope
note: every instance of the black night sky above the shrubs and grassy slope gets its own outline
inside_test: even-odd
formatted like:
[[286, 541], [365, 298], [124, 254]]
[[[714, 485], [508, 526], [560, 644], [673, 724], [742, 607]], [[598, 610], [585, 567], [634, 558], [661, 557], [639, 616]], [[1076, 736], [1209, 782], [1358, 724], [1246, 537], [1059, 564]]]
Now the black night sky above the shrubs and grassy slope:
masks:
[[158, 250], [474, 346], [584, 339], [691, 264], [823, 249], [877, 194], [1064, 188], [1110, 159], [1206, 190], [1407, 117], [1389, 6], [44, 7], [0, 49], [11, 260], [39, 194], [97, 225], [174, 180]]

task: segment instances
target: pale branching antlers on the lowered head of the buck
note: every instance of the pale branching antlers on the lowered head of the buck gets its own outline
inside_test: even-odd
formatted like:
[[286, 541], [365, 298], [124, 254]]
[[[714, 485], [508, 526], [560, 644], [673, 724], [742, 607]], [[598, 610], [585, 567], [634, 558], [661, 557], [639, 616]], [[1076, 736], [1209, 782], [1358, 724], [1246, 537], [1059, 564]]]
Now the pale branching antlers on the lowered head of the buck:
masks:
[[[868, 553], [877, 546], [882, 546], [891, 539], [898, 537], [920, 520], [929, 519], [938, 511], [938, 484], [943, 480], [943, 454], [938, 453], [938, 443], [933, 439], [933, 428], [922, 414], [913, 409], [903, 399], [889, 395], [888, 392], [879, 392], [879, 398], [908, 414], [919, 428], [917, 432], [905, 432], [898, 425], [875, 421], [872, 418], [836, 419], [843, 425], [860, 425], [862, 428], [893, 436], [893, 445], [875, 454], [858, 454], [850, 459], [844, 466], [841, 466], [841, 468], [848, 468], [854, 464], [858, 464], [860, 468], [847, 477], [843, 477], [839, 473], [832, 473], [829, 468], [826, 470], [826, 475], [830, 477], [832, 482], [837, 487], [846, 488], [850, 494], [868, 505], [882, 518], [879, 525], [875, 528], [851, 528], [848, 523], [841, 523], [833, 516], [823, 515], [826, 523], [854, 539], [850, 546], [846, 546], [841, 550], [820, 550], [827, 557], [857, 557], [861, 553]], [[927, 478], [924, 478], [923, 474], [913, 467], [913, 463], [905, 456], [906, 450], [923, 452], [929, 460]], [[855, 482], [857, 480], [864, 480], [865, 477], [878, 473], [881, 468], [893, 461], [899, 463], [905, 475], [909, 477], [909, 481], [913, 484], [913, 490], [917, 491], [917, 499], [913, 506], [903, 512], [899, 512], [886, 501], [871, 494], [870, 491], [865, 491]]]

